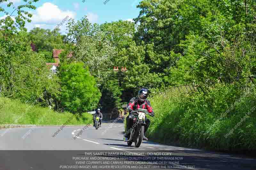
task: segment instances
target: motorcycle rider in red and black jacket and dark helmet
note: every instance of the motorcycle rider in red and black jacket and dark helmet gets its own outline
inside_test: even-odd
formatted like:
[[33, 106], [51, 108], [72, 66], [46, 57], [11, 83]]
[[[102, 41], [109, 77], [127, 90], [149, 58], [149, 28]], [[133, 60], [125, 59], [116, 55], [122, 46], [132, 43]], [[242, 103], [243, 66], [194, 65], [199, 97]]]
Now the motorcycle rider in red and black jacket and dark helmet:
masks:
[[[127, 133], [127, 132], [130, 128], [132, 128], [132, 125], [133, 125], [133, 118], [134, 118], [133, 114], [134, 113], [131, 113], [133, 110], [138, 109], [138, 108], [147, 109], [148, 113], [150, 113], [150, 116], [155, 115], [153, 108], [151, 107], [151, 104], [150, 104], [149, 100], [147, 99], [148, 93], [149, 93], [149, 90], [147, 88], [140, 89], [140, 91], [138, 92], [138, 96], [133, 97], [130, 100], [128, 107], [127, 107], [127, 110], [129, 111], [129, 115], [126, 117], [126, 134], [124, 135], [124, 137], [127, 137], [127, 138], [130, 137], [130, 133]], [[150, 124], [150, 120], [145, 118], [145, 123], [147, 125], [145, 126], [144, 134], [146, 134], [146, 131]], [[145, 135], [144, 135], [143, 140], [148, 140], [148, 138], [145, 137]]]

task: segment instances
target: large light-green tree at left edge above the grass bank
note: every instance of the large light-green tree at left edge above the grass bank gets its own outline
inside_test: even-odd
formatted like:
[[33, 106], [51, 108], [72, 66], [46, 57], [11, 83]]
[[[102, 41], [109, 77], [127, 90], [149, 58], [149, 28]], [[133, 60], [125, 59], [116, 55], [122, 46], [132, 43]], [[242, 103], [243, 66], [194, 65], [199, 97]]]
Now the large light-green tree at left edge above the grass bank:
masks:
[[[11, 19], [12, 14], [0, 7], [0, 11], [7, 15], [5, 19], [0, 20], [1, 92], [6, 97], [19, 98], [21, 101], [31, 103], [38, 98], [43, 99], [45, 90], [56, 96], [59, 87], [56, 77], [49, 79], [49, 70], [46, 68], [43, 56], [31, 50], [31, 42], [27, 38], [24, 26], [25, 21], [31, 21], [26, 15], [30, 18], [31, 14], [23, 11], [22, 8], [35, 9], [36, 7], [31, 5], [33, 2], [37, 0], [28, 1], [27, 4], [17, 8], [12, 3], [8, 4], [8, 7], [12, 6], [17, 10], [15, 21]], [[24, 31], [18, 32], [17, 27]]]

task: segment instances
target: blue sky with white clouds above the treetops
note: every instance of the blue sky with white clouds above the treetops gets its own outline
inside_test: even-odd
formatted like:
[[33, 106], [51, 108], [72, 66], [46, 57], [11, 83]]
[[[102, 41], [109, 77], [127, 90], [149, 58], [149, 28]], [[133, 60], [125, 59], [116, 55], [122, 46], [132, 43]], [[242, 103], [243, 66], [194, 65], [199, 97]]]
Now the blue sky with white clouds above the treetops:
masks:
[[[24, 4], [23, 0], [9, 0], [14, 6]], [[105, 22], [122, 20], [132, 20], [139, 15], [140, 10], [136, 8], [140, 0], [40, 0], [33, 5], [36, 10], [30, 11], [33, 14], [32, 22], [27, 23], [28, 30], [34, 27], [53, 30], [67, 16], [75, 20], [80, 20], [84, 15], [92, 23], [102, 24]], [[106, 4], [103, 2], [106, 1]], [[6, 4], [0, 4], [7, 11]], [[0, 12], [0, 19], [5, 18]], [[61, 33], [66, 32], [65, 23], [60, 28]]]

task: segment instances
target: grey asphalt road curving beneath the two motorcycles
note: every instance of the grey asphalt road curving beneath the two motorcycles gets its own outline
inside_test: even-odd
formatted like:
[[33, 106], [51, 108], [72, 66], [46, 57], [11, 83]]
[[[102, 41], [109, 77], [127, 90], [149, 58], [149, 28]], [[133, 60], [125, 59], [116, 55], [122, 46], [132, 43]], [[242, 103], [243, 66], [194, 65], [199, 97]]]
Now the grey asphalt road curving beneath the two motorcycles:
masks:
[[[78, 157], [88, 156], [89, 154], [87, 153], [90, 151], [94, 154], [95, 150], [98, 152], [108, 151], [108, 155], [104, 157], [117, 158], [117, 160], [121, 158], [120, 155], [113, 156], [109, 153], [114, 151], [123, 152], [129, 156], [134, 153], [141, 154], [142, 152], [162, 153], [162, 155], [164, 153], [165, 156], [157, 158], [159, 162], [155, 162], [155, 166], [153, 166], [153, 164], [151, 165], [154, 168], [256, 170], [256, 159], [243, 155], [231, 155], [175, 147], [150, 141], [143, 141], [139, 148], [135, 148], [134, 143], [132, 146], [127, 146], [127, 143], [123, 141], [124, 126], [121, 122], [103, 123], [102, 127], [98, 130], [93, 127], [84, 130], [84, 127], [81, 126], [65, 127], [55, 137], [52, 137], [59, 128], [60, 127], [11, 128], [7, 132], [6, 129], [0, 129], [0, 136], [4, 134], [0, 137], [0, 170], [79, 169], [77, 167], [81, 166], [81, 164], [84, 163], [84, 165], [86, 165], [88, 163], [87, 165], [89, 165], [89, 162], [81, 162], [86, 159]], [[30, 133], [28, 133], [29, 130]], [[74, 136], [79, 134], [79, 132], [80, 135], [74, 139]], [[23, 137], [24, 135], [25, 138]], [[168, 153], [168, 156], [166, 156], [166, 153]], [[146, 155], [148, 156], [148, 153]], [[149, 159], [150, 161], [156, 161], [156, 158], [148, 158], [147, 156], [145, 156], [145, 154], [136, 156], [136, 158], [143, 157], [141, 160], [143, 160], [144, 163], [142, 161], [138, 163], [139, 160], [136, 162], [135, 159], [127, 157], [122, 157], [122, 160], [126, 160], [126, 164], [130, 162], [130, 166], [146, 166], [146, 160], [149, 161]], [[100, 160], [102, 159], [98, 159], [97, 161]], [[110, 165], [113, 165], [113, 163], [114, 162], [110, 162], [109, 167], [106, 166], [106, 168], [101, 166], [101, 169], [129, 168], [128, 166], [111, 167]], [[100, 165], [103, 165], [104, 162], [94, 162], [94, 165], [96, 164], [99, 165], [98, 169], [100, 169]], [[72, 167], [71, 165], [74, 166]], [[166, 165], [172, 166], [167, 167]], [[90, 167], [80, 167], [80, 169], [92, 168], [92, 164], [90, 164]], [[130, 167], [130, 169], [132, 168]]]

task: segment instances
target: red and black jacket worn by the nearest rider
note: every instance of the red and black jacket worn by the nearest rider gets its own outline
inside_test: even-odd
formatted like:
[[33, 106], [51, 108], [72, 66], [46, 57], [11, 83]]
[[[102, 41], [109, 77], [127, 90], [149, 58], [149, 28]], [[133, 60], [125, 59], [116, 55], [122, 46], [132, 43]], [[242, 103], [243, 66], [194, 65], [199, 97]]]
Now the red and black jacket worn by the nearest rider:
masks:
[[129, 104], [127, 109], [130, 111], [135, 110], [135, 109], [147, 109], [149, 113], [154, 114], [153, 108], [151, 107], [151, 104], [149, 102], [149, 100], [145, 100], [143, 102], [141, 102], [138, 97], [133, 97]]

